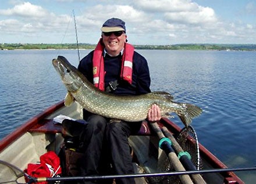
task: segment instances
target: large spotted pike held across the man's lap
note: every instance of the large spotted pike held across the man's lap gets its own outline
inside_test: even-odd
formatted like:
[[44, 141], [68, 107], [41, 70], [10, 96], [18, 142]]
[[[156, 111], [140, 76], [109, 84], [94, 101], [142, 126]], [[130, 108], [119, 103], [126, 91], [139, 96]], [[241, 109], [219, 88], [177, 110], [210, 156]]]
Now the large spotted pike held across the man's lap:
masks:
[[173, 102], [172, 95], [167, 92], [151, 92], [137, 96], [118, 96], [102, 92], [95, 88], [65, 57], [58, 56], [58, 59], [52, 60], [52, 64], [67, 88], [66, 102], [67, 99], [75, 99], [91, 113], [124, 121], [142, 121], [147, 118], [152, 104], [157, 104], [162, 116], [175, 112], [187, 127], [192, 118], [199, 116], [202, 112], [193, 104]]

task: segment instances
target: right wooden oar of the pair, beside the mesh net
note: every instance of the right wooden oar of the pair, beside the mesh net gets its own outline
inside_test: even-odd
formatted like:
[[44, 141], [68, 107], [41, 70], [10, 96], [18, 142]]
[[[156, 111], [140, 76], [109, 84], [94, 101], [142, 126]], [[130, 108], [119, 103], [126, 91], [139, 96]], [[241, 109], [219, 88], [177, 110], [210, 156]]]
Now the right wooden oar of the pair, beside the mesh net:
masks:
[[[172, 147], [176, 151], [176, 153], [177, 154], [184, 153], [184, 150], [182, 149], [182, 147], [180, 147], [179, 143], [177, 143], [177, 140], [173, 137], [173, 135], [170, 134], [168, 129], [166, 127], [162, 127], [162, 131], [163, 131], [163, 134], [172, 141]], [[190, 160], [190, 158], [187, 157], [186, 155], [181, 156], [180, 161], [187, 170], [192, 170], [192, 171], [197, 170], [195, 168], [194, 164], [192, 163], [192, 161]], [[191, 178], [193, 178], [194, 183], [198, 183], [198, 184], [205, 183], [206, 184], [206, 182], [204, 181], [204, 179], [202, 178], [202, 176], [200, 174], [191, 175]]]

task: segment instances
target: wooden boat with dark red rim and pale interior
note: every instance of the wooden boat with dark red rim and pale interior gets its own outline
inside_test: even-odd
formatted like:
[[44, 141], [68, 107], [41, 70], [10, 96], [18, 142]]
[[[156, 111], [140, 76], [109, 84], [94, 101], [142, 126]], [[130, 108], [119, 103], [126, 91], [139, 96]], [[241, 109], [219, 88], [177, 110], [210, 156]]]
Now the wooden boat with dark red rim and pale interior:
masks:
[[[40, 156], [49, 150], [58, 154], [63, 144], [65, 131], [62, 125], [53, 123], [53, 118], [63, 114], [75, 119], [81, 119], [82, 112], [80, 105], [76, 102], [69, 107], [65, 107], [63, 102], [49, 107], [1, 140], [0, 160], [13, 164], [17, 168], [25, 169], [28, 163], [39, 161]], [[166, 127], [170, 134], [173, 135], [179, 134], [181, 130], [168, 118], [162, 118], [158, 124]], [[187, 139], [191, 138], [188, 136]], [[141, 132], [130, 136], [130, 145], [133, 149], [134, 157], [136, 157], [138, 167], [143, 168], [144, 172], [159, 172], [159, 164], [163, 163], [163, 160], [160, 159], [165, 153], [158, 148], [158, 142], [158, 137], [148, 127], [147, 123], [143, 124]], [[199, 144], [199, 149], [204, 169], [227, 168], [225, 164], [201, 144]], [[8, 176], [0, 176], [0, 178], [4, 177]], [[206, 183], [244, 183], [233, 172], [214, 172], [203, 174], [202, 177]], [[138, 179], [136, 180], [137, 183], [145, 183], [145, 181], [142, 182]]]

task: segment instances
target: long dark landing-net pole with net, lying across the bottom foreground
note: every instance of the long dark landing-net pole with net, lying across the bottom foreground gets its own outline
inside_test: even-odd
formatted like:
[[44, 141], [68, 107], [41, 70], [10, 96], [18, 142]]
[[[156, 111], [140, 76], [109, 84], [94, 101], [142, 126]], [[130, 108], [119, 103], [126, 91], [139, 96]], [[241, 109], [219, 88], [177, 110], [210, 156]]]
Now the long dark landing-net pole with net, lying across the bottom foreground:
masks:
[[[189, 174], [207, 174], [215, 172], [234, 172], [234, 171], [256, 171], [256, 165], [254, 167], [243, 167], [243, 168], [222, 168], [222, 169], [204, 169], [196, 171], [176, 171], [176, 172], [162, 172], [162, 173], [151, 173], [151, 174], [130, 174], [130, 175], [106, 175], [106, 176], [75, 176], [75, 177], [61, 177], [61, 178], [34, 178], [22, 169], [17, 168], [15, 165], [7, 163], [6, 161], [0, 160], [0, 183], [18, 183], [18, 179], [22, 176], [29, 178], [29, 183], [35, 182], [56, 182], [56, 181], [91, 181], [95, 179], [120, 179], [120, 178], [141, 178], [141, 177], [157, 177], [157, 176], [174, 176], [174, 175], [189, 175]], [[6, 176], [3, 177], [3, 176]]]

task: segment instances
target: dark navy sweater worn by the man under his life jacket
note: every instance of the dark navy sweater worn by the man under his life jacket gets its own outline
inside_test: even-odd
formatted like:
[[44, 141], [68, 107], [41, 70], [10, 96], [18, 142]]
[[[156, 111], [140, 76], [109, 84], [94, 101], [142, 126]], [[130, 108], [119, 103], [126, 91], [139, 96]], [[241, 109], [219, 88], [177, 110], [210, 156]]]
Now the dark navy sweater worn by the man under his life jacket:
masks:
[[[93, 83], [93, 52], [94, 51], [85, 56], [78, 66], [78, 70], [81, 71], [91, 83]], [[115, 93], [116, 95], [140, 95], [151, 92], [148, 63], [143, 56], [134, 51], [132, 84], [120, 79], [121, 63], [121, 54], [115, 57], [106, 54], [104, 57], [105, 88], [109, 85], [109, 82], [118, 80], [119, 85], [117, 89], [111, 91], [111, 93]]]

